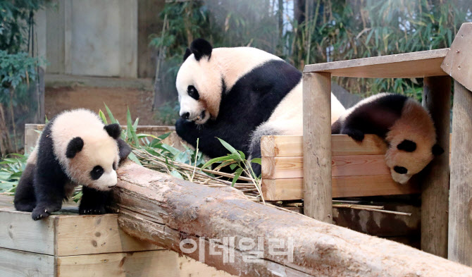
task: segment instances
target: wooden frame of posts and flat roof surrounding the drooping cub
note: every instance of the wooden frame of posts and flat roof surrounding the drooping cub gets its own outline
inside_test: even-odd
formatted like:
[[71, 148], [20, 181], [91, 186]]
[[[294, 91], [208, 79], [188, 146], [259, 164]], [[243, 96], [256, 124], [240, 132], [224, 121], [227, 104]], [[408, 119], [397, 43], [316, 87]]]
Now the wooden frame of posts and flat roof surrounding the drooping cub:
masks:
[[[330, 130], [333, 76], [354, 78], [423, 78], [423, 105], [437, 129], [438, 143], [449, 152], [451, 77], [454, 78], [449, 202], [449, 157], [437, 157], [423, 171], [421, 248], [472, 265], [472, 23], [464, 23], [450, 49], [378, 56], [307, 65], [303, 73], [304, 212], [332, 222], [337, 144]], [[450, 77], [449, 77], [450, 76]], [[313, 120], [316, 118], [316, 120]], [[380, 175], [379, 175], [380, 176]], [[333, 178], [333, 179], [332, 179]], [[376, 177], [378, 178], [378, 177]], [[276, 179], [275, 179], [276, 180]], [[448, 230], [449, 222], [449, 230]], [[449, 237], [449, 238], [448, 238]], [[449, 242], [449, 243], [448, 243]]]

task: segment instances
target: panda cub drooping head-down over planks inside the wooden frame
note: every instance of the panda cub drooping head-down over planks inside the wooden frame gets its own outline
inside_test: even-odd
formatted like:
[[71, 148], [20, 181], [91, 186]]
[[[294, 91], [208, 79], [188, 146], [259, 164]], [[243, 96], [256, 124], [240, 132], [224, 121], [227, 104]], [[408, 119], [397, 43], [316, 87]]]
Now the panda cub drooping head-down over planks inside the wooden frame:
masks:
[[381, 93], [348, 109], [331, 126], [331, 133], [361, 142], [375, 134], [388, 143], [385, 163], [393, 180], [405, 184], [444, 150], [436, 144], [436, 130], [428, 111], [414, 99]]

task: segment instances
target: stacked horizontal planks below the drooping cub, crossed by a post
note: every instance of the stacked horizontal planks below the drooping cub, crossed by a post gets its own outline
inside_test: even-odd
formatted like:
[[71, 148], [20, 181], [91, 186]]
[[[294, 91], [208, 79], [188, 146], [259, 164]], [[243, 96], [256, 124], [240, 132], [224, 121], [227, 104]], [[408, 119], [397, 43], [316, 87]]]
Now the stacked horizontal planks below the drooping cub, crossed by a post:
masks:
[[[385, 165], [387, 145], [366, 135], [358, 143], [347, 135], [332, 135], [333, 198], [419, 193], [418, 186], [392, 180]], [[262, 192], [266, 200], [303, 199], [303, 137], [265, 136], [261, 140]]]

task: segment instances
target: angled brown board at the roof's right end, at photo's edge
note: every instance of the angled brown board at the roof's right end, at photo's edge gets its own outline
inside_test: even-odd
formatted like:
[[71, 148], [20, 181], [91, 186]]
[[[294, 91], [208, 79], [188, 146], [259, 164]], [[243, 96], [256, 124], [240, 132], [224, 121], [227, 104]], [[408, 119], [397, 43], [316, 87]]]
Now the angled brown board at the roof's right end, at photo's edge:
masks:
[[441, 68], [457, 82], [472, 90], [472, 23], [464, 23], [451, 44], [451, 51], [442, 61]]

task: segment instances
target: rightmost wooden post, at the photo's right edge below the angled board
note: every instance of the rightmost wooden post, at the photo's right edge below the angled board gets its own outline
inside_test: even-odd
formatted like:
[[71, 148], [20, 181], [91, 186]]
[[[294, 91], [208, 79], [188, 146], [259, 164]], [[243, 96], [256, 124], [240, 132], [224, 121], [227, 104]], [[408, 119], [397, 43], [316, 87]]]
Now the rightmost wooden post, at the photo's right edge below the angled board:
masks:
[[449, 247], [452, 261], [472, 266], [472, 92], [454, 82]]

